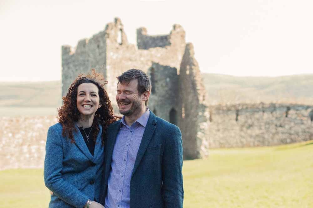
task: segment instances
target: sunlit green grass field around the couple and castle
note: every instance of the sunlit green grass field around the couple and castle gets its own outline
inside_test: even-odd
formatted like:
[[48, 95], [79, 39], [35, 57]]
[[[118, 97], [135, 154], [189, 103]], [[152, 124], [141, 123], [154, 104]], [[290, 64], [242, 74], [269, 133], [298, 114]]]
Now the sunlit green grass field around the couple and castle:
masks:
[[[185, 208], [313, 207], [313, 141], [184, 161]], [[0, 171], [0, 207], [48, 207], [42, 169]]]

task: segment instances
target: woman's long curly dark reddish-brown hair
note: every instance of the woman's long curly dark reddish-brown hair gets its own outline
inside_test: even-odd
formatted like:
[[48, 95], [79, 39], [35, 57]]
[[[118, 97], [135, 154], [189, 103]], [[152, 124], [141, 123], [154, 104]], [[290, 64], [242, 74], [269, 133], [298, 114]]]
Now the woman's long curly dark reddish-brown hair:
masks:
[[[103, 84], [101, 84], [102, 82]], [[63, 97], [63, 105], [58, 109], [58, 119], [59, 123], [62, 124], [62, 136], [71, 139], [71, 143], [75, 143], [73, 136], [73, 131], [77, 132], [75, 128], [75, 123], [80, 119], [80, 112], [77, 109], [76, 99], [77, 99], [77, 88], [82, 83], [92, 83], [95, 84], [99, 89], [99, 98], [101, 107], [97, 109], [95, 113], [95, 118], [93, 120], [92, 126], [96, 131], [94, 131], [93, 138], [96, 140], [99, 125], [102, 126], [102, 144], [104, 143], [106, 128], [110, 123], [116, 121], [113, 117], [113, 107], [109, 99], [108, 94], [104, 89], [104, 85], [108, 82], [104, 80], [104, 77], [97, 74], [94, 69], [92, 69], [92, 75], [80, 74], [76, 80], [69, 87], [69, 92]]]

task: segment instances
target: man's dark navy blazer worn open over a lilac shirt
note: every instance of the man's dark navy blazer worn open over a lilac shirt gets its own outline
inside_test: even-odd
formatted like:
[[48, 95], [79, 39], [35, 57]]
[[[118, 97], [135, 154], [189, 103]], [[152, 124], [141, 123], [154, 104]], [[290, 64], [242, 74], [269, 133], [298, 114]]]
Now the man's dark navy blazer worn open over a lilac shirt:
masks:
[[[112, 153], [120, 121], [110, 124], [105, 145], [104, 204]], [[130, 182], [131, 208], [182, 208], [182, 134], [180, 129], [151, 111], [137, 153]]]

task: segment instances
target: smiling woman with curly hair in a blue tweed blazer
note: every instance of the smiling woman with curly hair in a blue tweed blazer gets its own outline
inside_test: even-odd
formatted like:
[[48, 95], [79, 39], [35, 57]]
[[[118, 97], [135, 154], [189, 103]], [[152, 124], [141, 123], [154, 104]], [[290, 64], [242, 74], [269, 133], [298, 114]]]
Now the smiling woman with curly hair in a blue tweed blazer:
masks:
[[[44, 182], [54, 207], [103, 207], [102, 173], [105, 130], [116, 119], [99, 76], [80, 75], [59, 109], [59, 123], [48, 130]], [[102, 77], [103, 78], [103, 77]]]

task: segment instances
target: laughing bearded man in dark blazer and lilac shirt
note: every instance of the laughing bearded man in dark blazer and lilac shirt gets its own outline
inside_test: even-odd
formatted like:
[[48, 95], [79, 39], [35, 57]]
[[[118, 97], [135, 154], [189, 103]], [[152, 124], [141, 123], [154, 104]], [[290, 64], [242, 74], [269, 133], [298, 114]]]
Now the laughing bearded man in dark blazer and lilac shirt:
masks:
[[121, 120], [107, 129], [104, 192], [106, 208], [182, 208], [180, 129], [148, 108], [151, 82], [141, 70], [117, 77]]

